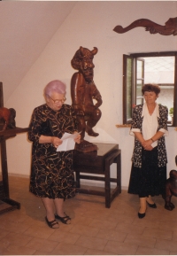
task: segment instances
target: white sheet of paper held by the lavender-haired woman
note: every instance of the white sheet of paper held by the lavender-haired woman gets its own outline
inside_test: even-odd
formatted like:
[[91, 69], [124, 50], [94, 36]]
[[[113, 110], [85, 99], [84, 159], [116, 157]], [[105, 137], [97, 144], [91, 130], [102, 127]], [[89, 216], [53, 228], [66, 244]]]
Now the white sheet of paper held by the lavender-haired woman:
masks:
[[62, 136], [61, 140], [63, 141], [62, 144], [58, 145], [57, 151], [72, 151], [74, 150], [75, 142], [74, 138], [76, 138], [79, 134], [75, 133], [73, 135], [65, 133]]

